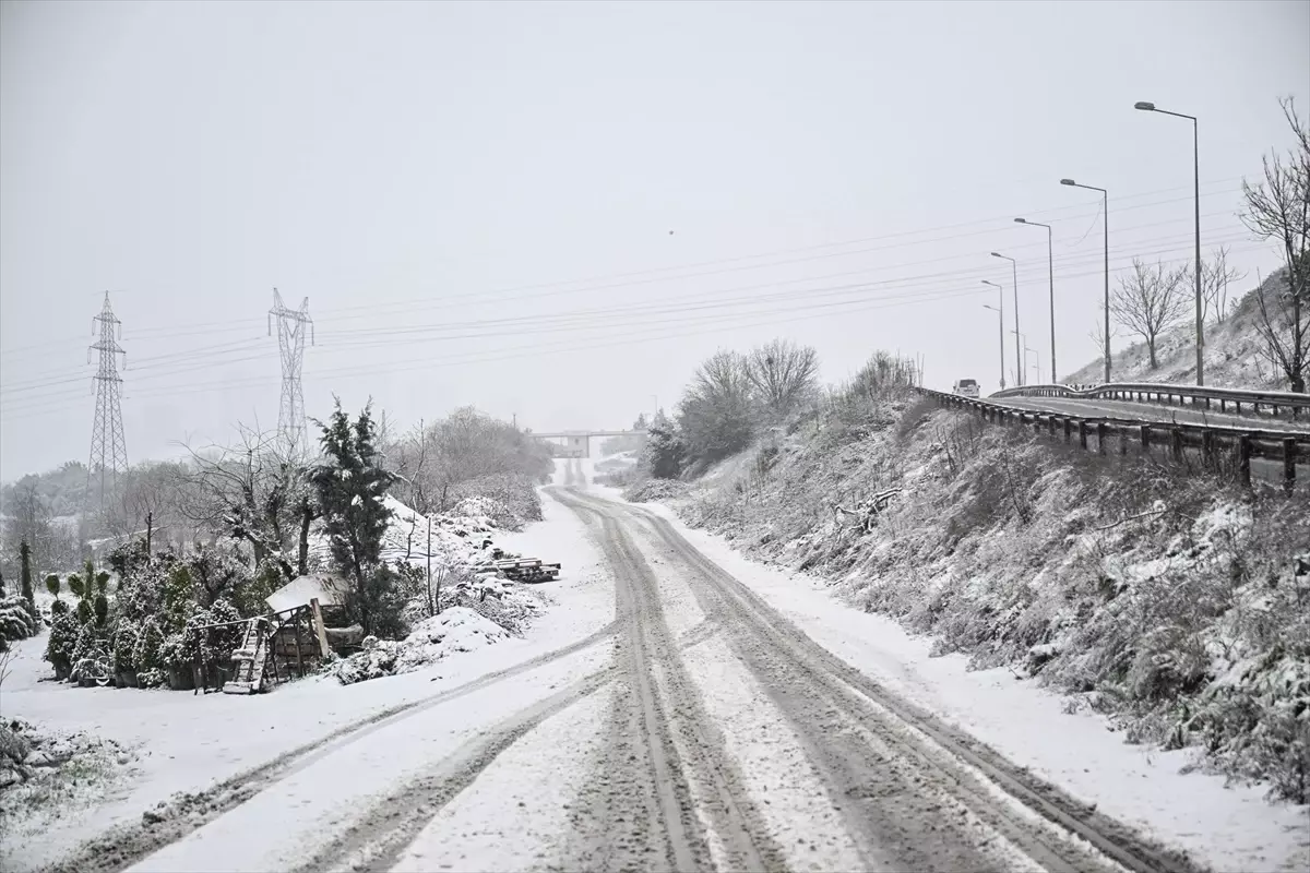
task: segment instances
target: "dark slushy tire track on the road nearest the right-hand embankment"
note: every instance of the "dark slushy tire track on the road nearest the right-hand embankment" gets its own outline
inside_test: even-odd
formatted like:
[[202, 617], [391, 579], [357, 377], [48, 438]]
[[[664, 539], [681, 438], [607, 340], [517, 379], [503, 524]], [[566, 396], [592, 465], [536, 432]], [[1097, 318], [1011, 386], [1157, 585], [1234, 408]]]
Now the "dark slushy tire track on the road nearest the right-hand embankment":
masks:
[[[719, 618], [720, 624], [728, 631], [734, 650], [760, 677], [765, 687], [773, 690], [776, 702], [796, 722], [802, 734], [811, 737], [811, 754], [817, 762], [827, 763], [836, 776], [836, 784], [844, 785], [845, 793], [853, 800], [863, 800], [859, 793], [872, 789], [875, 793], [870, 798], [880, 798], [872, 806], [878, 810], [887, 809], [886, 801], [891, 800], [887, 797], [887, 783], [882, 794], [878, 794], [879, 780], [889, 777], [889, 784], [901, 783], [905, 791], [913, 793], [920, 791], [916, 784], [922, 775], [935, 771], [945, 776], [943, 785], [952, 787], [950, 794], [969, 815], [993, 827], [1048, 869], [1106, 868], [1103, 861], [1089, 857], [1081, 851], [1076, 840], [1052, 839], [1051, 826], [1085, 840], [1102, 856], [1129, 870], [1191, 873], [1199, 869], [1178, 853], [1154, 846], [1132, 828], [1089, 809], [1056, 787], [1005, 760], [972, 737], [889, 694], [806, 636], [749, 588], [705, 558], [664, 518], [612, 501], [597, 501], [593, 497], [584, 500], [593, 504], [597, 512], [626, 513], [645, 521], [660, 542], [700, 577], [697, 590], [705, 598], [706, 614]], [[828, 730], [814, 732], [816, 719]], [[852, 726], [863, 737], [861, 743], [865, 746], [863, 751], [844, 741], [853, 736]], [[806, 728], [811, 730], [807, 732]], [[882, 746], [874, 749], [883, 757], [880, 763], [870, 763], [870, 746]], [[964, 767], [952, 767], [951, 760], [943, 762], [938, 750], [945, 750], [956, 762], [963, 762]], [[913, 762], [921, 772], [917, 775], [907, 772], [904, 767], [897, 767], [897, 759]], [[863, 779], [853, 780], [842, 774], [863, 775]], [[985, 780], [975, 774], [980, 774]], [[907, 776], [909, 784], [904, 781]], [[1034, 818], [1039, 817], [1045, 827], [1036, 828], [1034, 822], [1024, 821], [1023, 815], [1006, 814], [1003, 804], [997, 802], [1000, 798], [989, 796], [992, 793], [989, 788], [992, 792], [1003, 792], [1009, 800], [1018, 801], [1024, 811]], [[887, 836], [886, 831], [879, 834], [878, 828], [874, 830], [875, 832], [869, 836], [878, 840]], [[910, 836], [908, 832], [904, 835]], [[939, 840], [941, 835], [937, 839]], [[916, 842], [903, 843], [903, 848], [913, 852]], [[912, 864], [912, 866], [920, 865]]]

